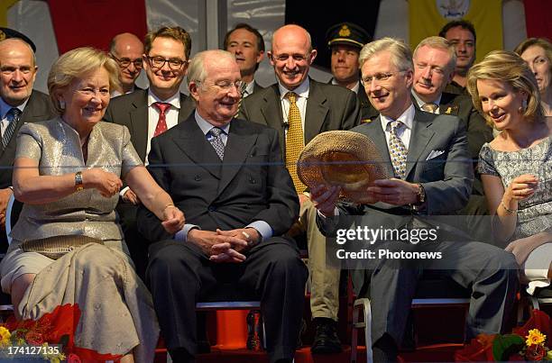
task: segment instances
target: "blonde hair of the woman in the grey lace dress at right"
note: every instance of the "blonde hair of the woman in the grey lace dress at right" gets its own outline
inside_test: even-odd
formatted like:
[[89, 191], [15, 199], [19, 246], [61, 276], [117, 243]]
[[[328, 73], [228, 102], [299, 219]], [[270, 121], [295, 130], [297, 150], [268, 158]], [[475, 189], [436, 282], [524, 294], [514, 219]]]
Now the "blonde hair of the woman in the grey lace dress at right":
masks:
[[[525, 60], [507, 50], [492, 50], [485, 58], [470, 68], [468, 72], [467, 90], [472, 95], [475, 109], [483, 113], [483, 106], [477, 91], [477, 81], [493, 79], [506, 82], [516, 91], [525, 91], [528, 95], [527, 107], [523, 116], [532, 121], [545, 122], [545, 113], [540, 104], [537, 79], [529, 69]], [[485, 115], [487, 123], [492, 124]]]

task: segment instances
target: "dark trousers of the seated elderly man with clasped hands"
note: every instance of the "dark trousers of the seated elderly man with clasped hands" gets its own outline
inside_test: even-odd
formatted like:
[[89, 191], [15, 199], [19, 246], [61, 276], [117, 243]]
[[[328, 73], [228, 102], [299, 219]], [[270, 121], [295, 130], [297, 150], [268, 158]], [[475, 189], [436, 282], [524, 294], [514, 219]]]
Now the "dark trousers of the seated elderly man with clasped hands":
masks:
[[192, 243], [164, 240], [152, 244], [147, 270], [168, 349], [195, 356], [196, 303], [221, 300], [217, 287], [231, 283], [237, 295], [261, 300], [271, 362], [293, 358], [307, 275], [297, 248], [282, 238], [263, 241], [239, 264], [216, 264]]

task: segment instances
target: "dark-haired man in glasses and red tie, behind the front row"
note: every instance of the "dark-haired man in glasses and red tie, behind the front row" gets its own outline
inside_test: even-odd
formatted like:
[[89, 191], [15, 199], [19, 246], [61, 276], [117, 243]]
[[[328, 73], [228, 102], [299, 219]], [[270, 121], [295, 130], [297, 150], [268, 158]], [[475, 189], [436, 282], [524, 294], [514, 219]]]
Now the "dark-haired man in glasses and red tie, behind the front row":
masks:
[[[140, 159], [147, 164], [152, 138], [188, 119], [195, 105], [189, 96], [179, 92], [188, 70], [191, 38], [179, 26], [161, 27], [148, 32], [144, 39], [143, 68], [150, 82], [148, 89], [115, 97], [107, 107], [105, 121], [123, 124]], [[144, 277], [147, 243], [136, 230], [136, 206], [140, 200], [124, 187], [117, 212], [125, 240], [129, 243], [136, 272]]]

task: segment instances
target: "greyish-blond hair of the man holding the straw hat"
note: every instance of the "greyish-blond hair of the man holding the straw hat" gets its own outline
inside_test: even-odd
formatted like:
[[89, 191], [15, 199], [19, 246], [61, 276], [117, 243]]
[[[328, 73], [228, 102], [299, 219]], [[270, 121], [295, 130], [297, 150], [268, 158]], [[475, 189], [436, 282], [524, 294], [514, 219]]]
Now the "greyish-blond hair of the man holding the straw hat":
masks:
[[369, 42], [363, 46], [358, 57], [358, 64], [360, 68], [366, 60], [371, 59], [376, 53], [388, 50], [391, 53], [391, 63], [398, 70], [413, 70], [414, 64], [412, 63], [412, 52], [409, 46], [400, 39], [385, 37], [377, 41]]

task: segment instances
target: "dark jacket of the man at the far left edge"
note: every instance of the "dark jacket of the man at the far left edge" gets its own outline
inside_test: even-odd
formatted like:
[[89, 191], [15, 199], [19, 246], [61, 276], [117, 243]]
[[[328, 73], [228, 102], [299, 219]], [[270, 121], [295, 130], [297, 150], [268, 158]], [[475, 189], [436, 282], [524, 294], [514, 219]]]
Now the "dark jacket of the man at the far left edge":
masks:
[[12, 174], [14, 167], [15, 149], [17, 147], [17, 132], [23, 123], [35, 123], [46, 121], [53, 118], [56, 114], [51, 107], [50, 97], [33, 90], [29, 101], [25, 105], [23, 113], [19, 118], [19, 123], [15, 126], [14, 135], [8, 143], [5, 150], [0, 147], [0, 167], [3, 169], [0, 173], [0, 189], [12, 185]]

